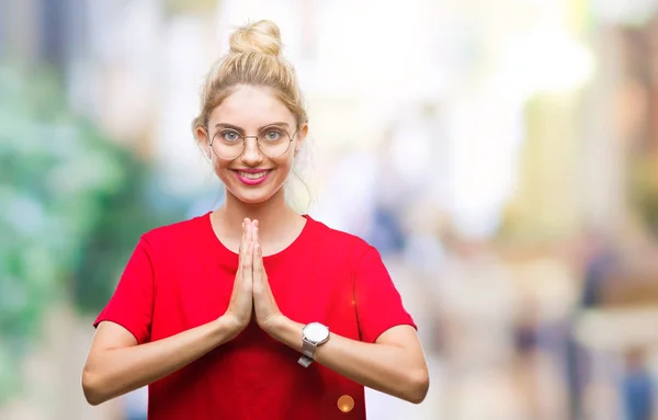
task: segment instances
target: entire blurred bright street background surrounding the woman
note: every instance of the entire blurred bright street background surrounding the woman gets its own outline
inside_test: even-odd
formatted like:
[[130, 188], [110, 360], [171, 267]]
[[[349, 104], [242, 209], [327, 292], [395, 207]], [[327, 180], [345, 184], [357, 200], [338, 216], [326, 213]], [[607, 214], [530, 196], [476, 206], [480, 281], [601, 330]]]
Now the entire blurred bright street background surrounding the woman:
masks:
[[384, 256], [430, 394], [370, 419], [656, 420], [658, 0], [0, 1], [0, 419], [82, 396], [138, 237], [223, 192], [190, 130], [272, 19], [310, 116], [295, 206]]

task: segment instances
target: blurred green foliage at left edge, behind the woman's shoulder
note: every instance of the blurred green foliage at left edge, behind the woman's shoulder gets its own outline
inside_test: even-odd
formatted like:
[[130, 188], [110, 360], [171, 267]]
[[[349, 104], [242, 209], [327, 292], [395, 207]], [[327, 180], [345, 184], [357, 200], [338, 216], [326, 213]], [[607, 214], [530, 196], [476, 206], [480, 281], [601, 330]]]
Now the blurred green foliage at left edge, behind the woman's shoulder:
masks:
[[65, 98], [53, 72], [0, 67], [0, 401], [48, 305], [98, 313], [139, 235], [180, 217]]

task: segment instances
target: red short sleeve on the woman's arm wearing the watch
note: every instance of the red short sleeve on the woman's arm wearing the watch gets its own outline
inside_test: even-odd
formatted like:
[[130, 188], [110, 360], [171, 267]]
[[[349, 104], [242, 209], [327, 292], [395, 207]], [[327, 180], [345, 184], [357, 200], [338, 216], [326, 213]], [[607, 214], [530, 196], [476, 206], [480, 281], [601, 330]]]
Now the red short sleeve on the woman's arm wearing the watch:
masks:
[[373, 247], [356, 264], [354, 305], [362, 341], [373, 343], [383, 332], [400, 325], [417, 328], [402, 305], [379, 252]]

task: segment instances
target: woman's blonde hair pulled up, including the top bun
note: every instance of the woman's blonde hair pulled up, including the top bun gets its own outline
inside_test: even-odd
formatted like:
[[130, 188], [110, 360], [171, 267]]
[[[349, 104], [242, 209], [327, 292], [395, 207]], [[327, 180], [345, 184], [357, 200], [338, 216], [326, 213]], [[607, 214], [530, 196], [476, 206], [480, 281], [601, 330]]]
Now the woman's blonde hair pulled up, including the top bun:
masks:
[[271, 88], [293, 113], [297, 126], [308, 122], [297, 75], [281, 55], [281, 32], [274, 22], [262, 20], [237, 29], [229, 45], [203, 86], [200, 114], [192, 121], [195, 136], [198, 128], [207, 126], [213, 110], [240, 84]]

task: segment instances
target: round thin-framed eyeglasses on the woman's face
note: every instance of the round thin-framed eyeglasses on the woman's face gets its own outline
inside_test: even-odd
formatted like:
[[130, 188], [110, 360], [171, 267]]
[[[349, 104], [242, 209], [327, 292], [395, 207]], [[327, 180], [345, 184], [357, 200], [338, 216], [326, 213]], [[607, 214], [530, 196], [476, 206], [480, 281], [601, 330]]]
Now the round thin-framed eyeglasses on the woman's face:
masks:
[[[207, 128], [206, 128], [207, 132]], [[248, 138], [254, 138], [258, 149], [268, 158], [279, 158], [288, 151], [299, 127], [291, 136], [280, 126], [263, 128], [258, 136], [242, 136], [234, 128], [220, 128], [211, 138], [209, 146], [219, 159], [237, 159], [245, 152]]]

